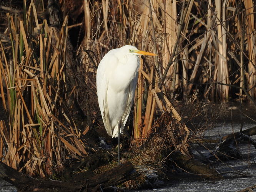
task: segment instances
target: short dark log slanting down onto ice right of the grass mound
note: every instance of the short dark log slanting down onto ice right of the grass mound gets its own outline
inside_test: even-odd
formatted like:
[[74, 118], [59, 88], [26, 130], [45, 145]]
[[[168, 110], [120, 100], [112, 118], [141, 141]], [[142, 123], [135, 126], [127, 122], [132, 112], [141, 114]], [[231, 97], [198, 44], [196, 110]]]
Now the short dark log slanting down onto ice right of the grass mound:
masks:
[[222, 179], [221, 174], [216, 169], [196, 161], [191, 157], [185, 156], [180, 152], [174, 152], [170, 157], [179, 167], [188, 172], [193, 172], [206, 179]]

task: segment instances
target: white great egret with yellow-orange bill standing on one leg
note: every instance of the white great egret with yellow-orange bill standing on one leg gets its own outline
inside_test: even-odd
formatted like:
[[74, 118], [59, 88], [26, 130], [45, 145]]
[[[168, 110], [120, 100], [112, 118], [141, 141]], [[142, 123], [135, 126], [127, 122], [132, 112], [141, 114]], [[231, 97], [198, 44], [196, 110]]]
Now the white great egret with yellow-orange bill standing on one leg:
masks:
[[120, 132], [128, 119], [133, 103], [140, 55], [154, 53], [125, 45], [110, 50], [100, 61], [96, 75], [97, 95], [101, 116], [109, 136], [118, 137], [118, 163], [120, 163]]

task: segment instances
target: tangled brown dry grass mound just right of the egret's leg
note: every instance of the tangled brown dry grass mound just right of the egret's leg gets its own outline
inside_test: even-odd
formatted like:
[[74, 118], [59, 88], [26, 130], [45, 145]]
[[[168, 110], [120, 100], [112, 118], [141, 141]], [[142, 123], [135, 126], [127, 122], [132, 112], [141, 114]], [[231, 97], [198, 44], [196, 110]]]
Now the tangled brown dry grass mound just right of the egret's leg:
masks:
[[171, 169], [165, 159], [173, 151], [185, 151], [185, 136], [183, 125], [173, 119], [171, 113], [161, 114], [147, 141], [142, 146], [135, 147], [132, 155], [126, 158], [133, 163], [140, 176], [136, 180], [125, 182], [125, 186], [134, 189], [161, 185], [166, 169]]

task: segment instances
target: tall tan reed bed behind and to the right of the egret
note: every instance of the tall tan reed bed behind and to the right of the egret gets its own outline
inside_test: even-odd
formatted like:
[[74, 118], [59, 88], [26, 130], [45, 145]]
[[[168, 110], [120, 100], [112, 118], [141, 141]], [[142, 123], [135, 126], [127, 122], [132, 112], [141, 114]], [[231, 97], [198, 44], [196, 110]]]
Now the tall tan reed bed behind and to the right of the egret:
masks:
[[[204, 101], [247, 98], [254, 103], [253, 1], [85, 0], [84, 8], [80, 49], [93, 51], [95, 62], [126, 44], [158, 54], [141, 60], [133, 113], [137, 146], [164, 113], [181, 122], [186, 141], [189, 130], [171, 104], [175, 99], [186, 101], [197, 93]], [[83, 58], [85, 74], [95, 82], [96, 68]]]

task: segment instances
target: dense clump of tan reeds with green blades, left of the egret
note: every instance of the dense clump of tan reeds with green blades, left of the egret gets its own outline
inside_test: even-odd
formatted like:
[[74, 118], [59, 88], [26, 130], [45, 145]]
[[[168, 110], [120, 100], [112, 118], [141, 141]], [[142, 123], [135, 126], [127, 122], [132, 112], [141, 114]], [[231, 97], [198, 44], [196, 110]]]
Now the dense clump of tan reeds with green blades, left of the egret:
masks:
[[[0, 160], [28, 175], [64, 169], [66, 158], [88, 154], [65, 105], [67, 17], [60, 36], [38, 20], [33, 1], [23, 18], [7, 13], [9, 42], [0, 40]], [[16, 22], [17, 21], [17, 22]], [[6, 97], [6, 99], [5, 99]]]

